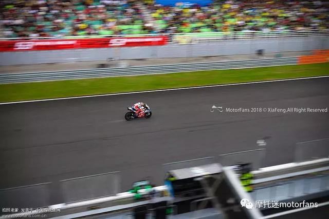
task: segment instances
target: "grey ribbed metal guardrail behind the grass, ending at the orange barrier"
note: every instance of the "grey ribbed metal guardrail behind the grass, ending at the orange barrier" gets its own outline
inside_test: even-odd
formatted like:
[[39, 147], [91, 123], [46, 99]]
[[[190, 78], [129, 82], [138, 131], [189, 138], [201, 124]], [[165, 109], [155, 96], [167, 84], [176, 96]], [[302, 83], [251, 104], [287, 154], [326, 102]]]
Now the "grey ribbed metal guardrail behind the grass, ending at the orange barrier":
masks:
[[255, 68], [255, 67], [267, 67], [267, 66], [296, 65], [297, 61], [298, 61], [298, 57], [285, 57], [285, 58], [264, 58], [264, 59], [251, 59], [251, 60], [227, 61], [227, 62], [86, 69], [86, 70], [74, 70], [74, 71], [11, 73], [11, 74], [1, 74], [0, 84], [124, 76], [124, 75], [155, 74], [155, 73], [175, 73], [175, 72], [200, 71], [200, 70], [217, 70], [217, 69], [220, 70], [220, 69], [239, 69], [239, 68]]

